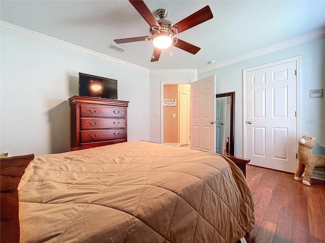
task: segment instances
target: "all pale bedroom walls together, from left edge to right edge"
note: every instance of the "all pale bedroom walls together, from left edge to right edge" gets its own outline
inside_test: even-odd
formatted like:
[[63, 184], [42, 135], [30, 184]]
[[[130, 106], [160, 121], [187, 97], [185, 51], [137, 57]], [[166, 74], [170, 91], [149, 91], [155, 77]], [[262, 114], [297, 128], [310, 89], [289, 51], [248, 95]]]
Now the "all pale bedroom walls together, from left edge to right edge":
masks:
[[[235, 154], [243, 155], [242, 70], [301, 56], [301, 131], [315, 136], [324, 154], [325, 98], [309, 99], [308, 90], [325, 90], [324, 38], [197, 74], [196, 70], [122, 67], [97, 58], [1, 32], [0, 153], [45, 154], [70, 148], [68, 98], [78, 94], [78, 73], [118, 79], [118, 98], [130, 101], [128, 139], [160, 142], [161, 82], [189, 83], [216, 74], [217, 93], [236, 92]], [[316, 107], [311, 109], [311, 107]]]

